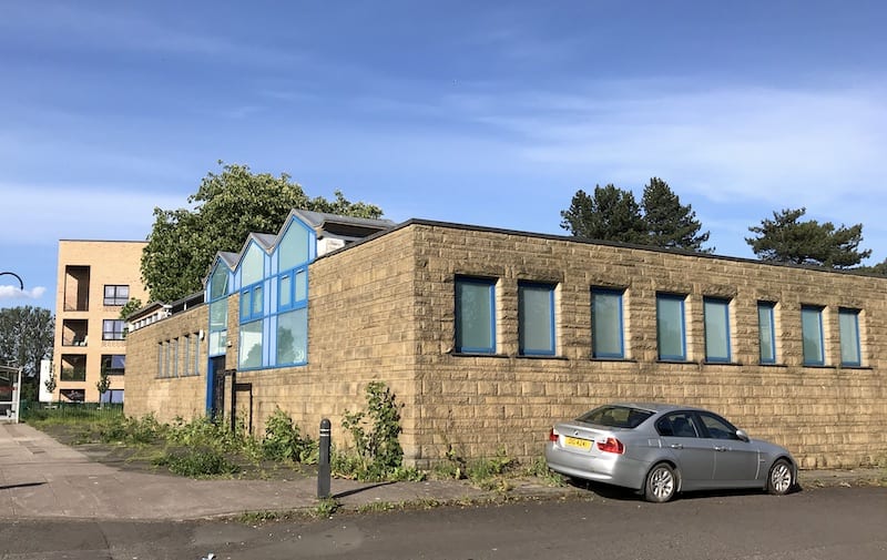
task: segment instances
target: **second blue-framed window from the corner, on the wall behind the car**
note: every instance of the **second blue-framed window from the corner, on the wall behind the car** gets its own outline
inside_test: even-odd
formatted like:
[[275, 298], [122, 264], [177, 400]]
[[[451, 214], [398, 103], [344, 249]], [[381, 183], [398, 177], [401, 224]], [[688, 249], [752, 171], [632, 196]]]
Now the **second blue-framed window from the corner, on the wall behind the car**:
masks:
[[518, 284], [518, 330], [520, 354], [554, 354], [554, 286]]

